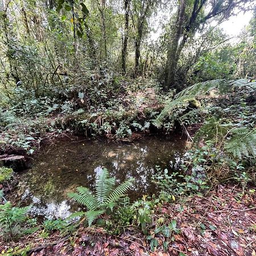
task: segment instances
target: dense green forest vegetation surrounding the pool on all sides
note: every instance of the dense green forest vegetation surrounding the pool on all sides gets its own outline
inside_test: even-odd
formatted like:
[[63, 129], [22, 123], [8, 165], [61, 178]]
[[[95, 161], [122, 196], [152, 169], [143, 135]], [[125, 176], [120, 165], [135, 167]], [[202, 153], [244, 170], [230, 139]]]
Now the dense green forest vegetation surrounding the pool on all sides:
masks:
[[[172, 246], [187, 232], [175, 218], [184, 209], [205, 204], [207, 197], [213, 213], [223, 212], [224, 194], [234, 198], [235, 208], [242, 205], [241, 214], [255, 209], [255, 8], [253, 0], [1, 1], [1, 155], [27, 159], [64, 134], [132, 141], [138, 134], [172, 133], [190, 142], [182, 174], [156, 167], [158, 196], [131, 202], [125, 194], [133, 179], [115, 184], [104, 169], [94, 191], [79, 187], [69, 193], [82, 210], [67, 220], [32, 218], [30, 207], [19, 205], [11, 192], [13, 170], [0, 167], [2, 254], [40, 253], [66, 240], [68, 254], [79, 246], [96, 247], [96, 240], [83, 238], [85, 232], [127, 240], [129, 229], [142, 237], [128, 241], [138, 247], [143, 240], [139, 247], [146, 253], [186, 255], [192, 249], [185, 243]], [[250, 23], [229, 38], [220, 24], [240, 12], [252, 14]], [[197, 235], [209, 237], [211, 230], [219, 238], [204, 216], [197, 220]], [[232, 232], [251, 240], [244, 254], [241, 246], [232, 250], [256, 255], [255, 222], [240, 218], [246, 232], [241, 223], [241, 233]], [[40, 241], [63, 240], [35, 249], [35, 240], [24, 241], [31, 234]], [[224, 255], [200, 250], [205, 252]]]

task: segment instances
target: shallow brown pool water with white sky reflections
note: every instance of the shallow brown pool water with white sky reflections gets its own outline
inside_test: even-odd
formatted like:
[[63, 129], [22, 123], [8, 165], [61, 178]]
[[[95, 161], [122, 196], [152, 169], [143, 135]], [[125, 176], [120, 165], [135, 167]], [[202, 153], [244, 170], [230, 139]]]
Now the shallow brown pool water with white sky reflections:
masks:
[[65, 218], [77, 210], [67, 193], [77, 186], [93, 189], [103, 167], [117, 182], [134, 177], [129, 197], [152, 195], [155, 166], [179, 171], [183, 162], [184, 139], [146, 137], [133, 143], [68, 139], [44, 147], [31, 170], [20, 173], [18, 201], [33, 204], [31, 213], [47, 218]]

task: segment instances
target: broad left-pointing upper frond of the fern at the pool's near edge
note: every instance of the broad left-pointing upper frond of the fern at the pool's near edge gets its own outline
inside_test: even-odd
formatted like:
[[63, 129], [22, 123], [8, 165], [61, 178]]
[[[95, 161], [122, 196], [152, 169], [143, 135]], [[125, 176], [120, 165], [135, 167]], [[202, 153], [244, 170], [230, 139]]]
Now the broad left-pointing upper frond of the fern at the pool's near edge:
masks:
[[78, 187], [77, 193], [68, 193], [68, 196], [77, 203], [84, 205], [89, 210], [94, 210], [98, 207], [98, 201], [92, 192], [85, 187]]

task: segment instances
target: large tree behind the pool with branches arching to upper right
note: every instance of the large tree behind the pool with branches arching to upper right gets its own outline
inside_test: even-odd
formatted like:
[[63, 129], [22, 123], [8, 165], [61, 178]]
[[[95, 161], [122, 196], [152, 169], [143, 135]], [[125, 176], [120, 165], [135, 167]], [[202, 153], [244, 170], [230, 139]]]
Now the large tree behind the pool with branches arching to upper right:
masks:
[[200, 27], [204, 27], [210, 19], [215, 18], [219, 23], [223, 22], [234, 14], [234, 10], [250, 8], [249, 3], [253, 3], [253, 0], [180, 1], [176, 23], [168, 45], [166, 87], [177, 87], [177, 64], [188, 39], [193, 38]]

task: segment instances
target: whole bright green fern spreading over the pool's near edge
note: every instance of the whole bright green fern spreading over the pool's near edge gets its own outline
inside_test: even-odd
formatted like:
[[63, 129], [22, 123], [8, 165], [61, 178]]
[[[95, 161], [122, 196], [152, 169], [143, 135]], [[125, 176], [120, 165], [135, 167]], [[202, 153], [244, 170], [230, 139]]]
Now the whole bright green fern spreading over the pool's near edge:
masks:
[[94, 193], [84, 187], [78, 187], [77, 193], [68, 193], [69, 197], [88, 209], [87, 212], [72, 214], [72, 217], [84, 215], [89, 226], [92, 225], [93, 221], [105, 213], [107, 208], [113, 209], [118, 200], [131, 187], [132, 181], [133, 179], [126, 180], [114, 188], [115, 179], [111, 178], [108, 170], [104, 168], [98, 176]]

